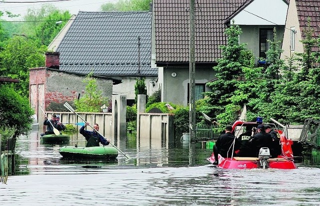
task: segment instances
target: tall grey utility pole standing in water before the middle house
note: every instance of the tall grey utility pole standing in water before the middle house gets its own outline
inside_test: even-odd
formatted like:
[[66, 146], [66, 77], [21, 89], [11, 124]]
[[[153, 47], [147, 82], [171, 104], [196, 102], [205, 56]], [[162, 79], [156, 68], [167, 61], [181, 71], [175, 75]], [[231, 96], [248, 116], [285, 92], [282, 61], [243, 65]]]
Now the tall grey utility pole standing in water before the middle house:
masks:
[[[194, 0], [190, 3], [190, 40], [189, 40], [189, 131], [190, 138], [195, 136], [195, 46], [194, 46]], [[190, 141], [189, 141], [190, 142]]]

